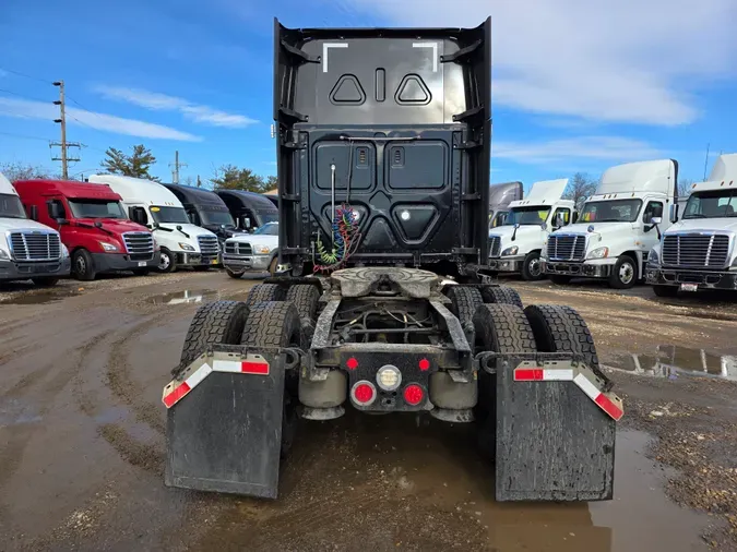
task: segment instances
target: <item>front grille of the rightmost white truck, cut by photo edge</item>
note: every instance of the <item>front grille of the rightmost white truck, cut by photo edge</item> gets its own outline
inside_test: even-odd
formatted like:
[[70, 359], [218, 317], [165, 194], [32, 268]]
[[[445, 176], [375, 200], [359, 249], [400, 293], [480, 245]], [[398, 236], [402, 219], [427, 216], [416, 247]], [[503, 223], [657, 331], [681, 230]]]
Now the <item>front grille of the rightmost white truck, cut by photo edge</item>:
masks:
[[724, 268], [729, 255], [729, 236], [718, 233], [677, 233], [663, 240], [663, 264], [702, 268]]

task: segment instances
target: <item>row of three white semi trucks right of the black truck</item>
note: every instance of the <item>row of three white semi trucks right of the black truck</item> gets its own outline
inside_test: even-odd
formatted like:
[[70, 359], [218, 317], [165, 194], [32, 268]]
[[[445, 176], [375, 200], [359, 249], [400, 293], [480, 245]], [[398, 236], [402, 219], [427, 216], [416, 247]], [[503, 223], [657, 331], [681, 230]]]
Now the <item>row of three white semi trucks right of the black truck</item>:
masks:
[[[657, 296], [737, 289], [734, 244], [737, 154], [721, 155], [706, 182], [678, 195], [678, 163], [659, 159], [607, 169], [580, 212], [562, 200], [567, 180], [534, 183], [522, 200], [490, 205], [489, 268], [525, 280], [638, 283]], [[520, 193], [512, 183], [491, 197]], [[495, 194], [496, 190], [496, 194]]]

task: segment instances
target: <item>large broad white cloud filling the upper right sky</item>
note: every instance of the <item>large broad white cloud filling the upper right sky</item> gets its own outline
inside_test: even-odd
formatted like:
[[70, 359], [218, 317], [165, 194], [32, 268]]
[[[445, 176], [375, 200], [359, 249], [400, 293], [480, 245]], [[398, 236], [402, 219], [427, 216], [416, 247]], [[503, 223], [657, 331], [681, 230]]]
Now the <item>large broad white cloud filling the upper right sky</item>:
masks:
[[681, 124], [692, 94], [735, 76], [737, 2], [333, 0], [402, 26], [491, 15], [494, 103], [595, 121]]

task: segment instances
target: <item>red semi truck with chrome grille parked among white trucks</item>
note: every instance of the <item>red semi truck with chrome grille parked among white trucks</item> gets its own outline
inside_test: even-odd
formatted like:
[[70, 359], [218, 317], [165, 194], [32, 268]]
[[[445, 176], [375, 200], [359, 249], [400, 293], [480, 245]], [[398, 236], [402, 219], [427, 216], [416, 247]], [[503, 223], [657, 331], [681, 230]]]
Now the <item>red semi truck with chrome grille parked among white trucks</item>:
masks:
[[144, 275], [158, 264], [153, 235], [128, 219], [109, 187], [63, 180], [20, 180], [14, 187], [32, 218], [59, 230], [75, 278], [118, 271]]

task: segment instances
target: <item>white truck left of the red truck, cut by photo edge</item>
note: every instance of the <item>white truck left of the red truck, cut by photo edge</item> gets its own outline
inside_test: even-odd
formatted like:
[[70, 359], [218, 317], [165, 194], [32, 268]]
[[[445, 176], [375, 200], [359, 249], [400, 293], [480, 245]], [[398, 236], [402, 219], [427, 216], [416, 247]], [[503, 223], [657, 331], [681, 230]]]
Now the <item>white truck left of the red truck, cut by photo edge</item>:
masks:
[[31, 220], [15, 188], [0, 173], [0, 281], [54, 286], [69, 276], [70, 265], [59, 232]]

